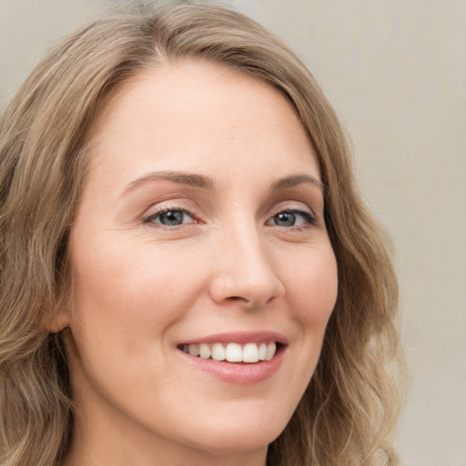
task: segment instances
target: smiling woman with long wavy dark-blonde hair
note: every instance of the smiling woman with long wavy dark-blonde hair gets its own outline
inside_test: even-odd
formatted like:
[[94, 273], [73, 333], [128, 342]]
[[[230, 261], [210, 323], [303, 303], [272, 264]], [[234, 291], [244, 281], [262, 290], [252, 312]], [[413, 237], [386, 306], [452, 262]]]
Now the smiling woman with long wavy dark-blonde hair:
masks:
[[387, 240], [278, 39], [102, 18], [0, 135], [5, 465], [397, 463]]

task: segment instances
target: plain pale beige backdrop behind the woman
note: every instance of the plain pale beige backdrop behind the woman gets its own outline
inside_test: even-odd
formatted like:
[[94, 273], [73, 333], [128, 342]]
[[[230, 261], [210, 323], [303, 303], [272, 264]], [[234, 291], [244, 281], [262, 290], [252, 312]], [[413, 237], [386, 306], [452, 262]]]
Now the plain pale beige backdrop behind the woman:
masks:
[[[114, 2], [117, 3], [117, 2]], [[466, 1], [237, 0], [293, 46], [353, 137], [398, 251], [410, 466], [466, 465]], [[105, 0], [0, 0], [0, 106]]]

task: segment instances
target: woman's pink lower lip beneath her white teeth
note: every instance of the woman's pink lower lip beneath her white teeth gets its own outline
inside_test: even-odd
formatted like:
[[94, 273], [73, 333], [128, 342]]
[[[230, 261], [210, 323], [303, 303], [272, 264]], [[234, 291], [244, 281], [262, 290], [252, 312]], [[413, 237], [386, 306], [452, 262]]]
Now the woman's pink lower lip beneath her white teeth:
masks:
[[285, 347], [280, 347], [271, 360], [254, 363], [203, 360], [198, 356], [191, 356], [180, 349], [178, 351], [190, 364], [196, 366], [199, 370], [210, 372], [219, 380], [236, 385], [251, 385], [269, 379], [279, 370], [283, 361]]

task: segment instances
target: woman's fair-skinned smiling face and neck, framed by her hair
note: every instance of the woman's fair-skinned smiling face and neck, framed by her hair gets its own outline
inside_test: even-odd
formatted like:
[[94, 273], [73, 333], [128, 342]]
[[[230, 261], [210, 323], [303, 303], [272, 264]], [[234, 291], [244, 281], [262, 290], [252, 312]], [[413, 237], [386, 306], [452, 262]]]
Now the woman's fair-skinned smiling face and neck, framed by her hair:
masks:
[[[55, 324], [76, 403], [66, 466], [264, 466], [337, 297], [299, 117], [257, 78], [166, 64], [117, 89], [90, 142]], [[196, 356], [215, 343], [243, 360]]]

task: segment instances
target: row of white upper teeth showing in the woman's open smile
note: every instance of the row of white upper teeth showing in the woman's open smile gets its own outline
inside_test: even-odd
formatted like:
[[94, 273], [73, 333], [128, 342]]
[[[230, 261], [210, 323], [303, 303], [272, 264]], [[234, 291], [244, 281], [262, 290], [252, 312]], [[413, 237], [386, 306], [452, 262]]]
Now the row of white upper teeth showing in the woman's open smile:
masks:
[[227, 362], [256, 362], [271, 360], [280, 348], [280, 343], [275, 341], [263, 341], [260, 343], [199, 343], [181, 344], [177, 349], [198, 357], [202, 360], [218, 360]]

